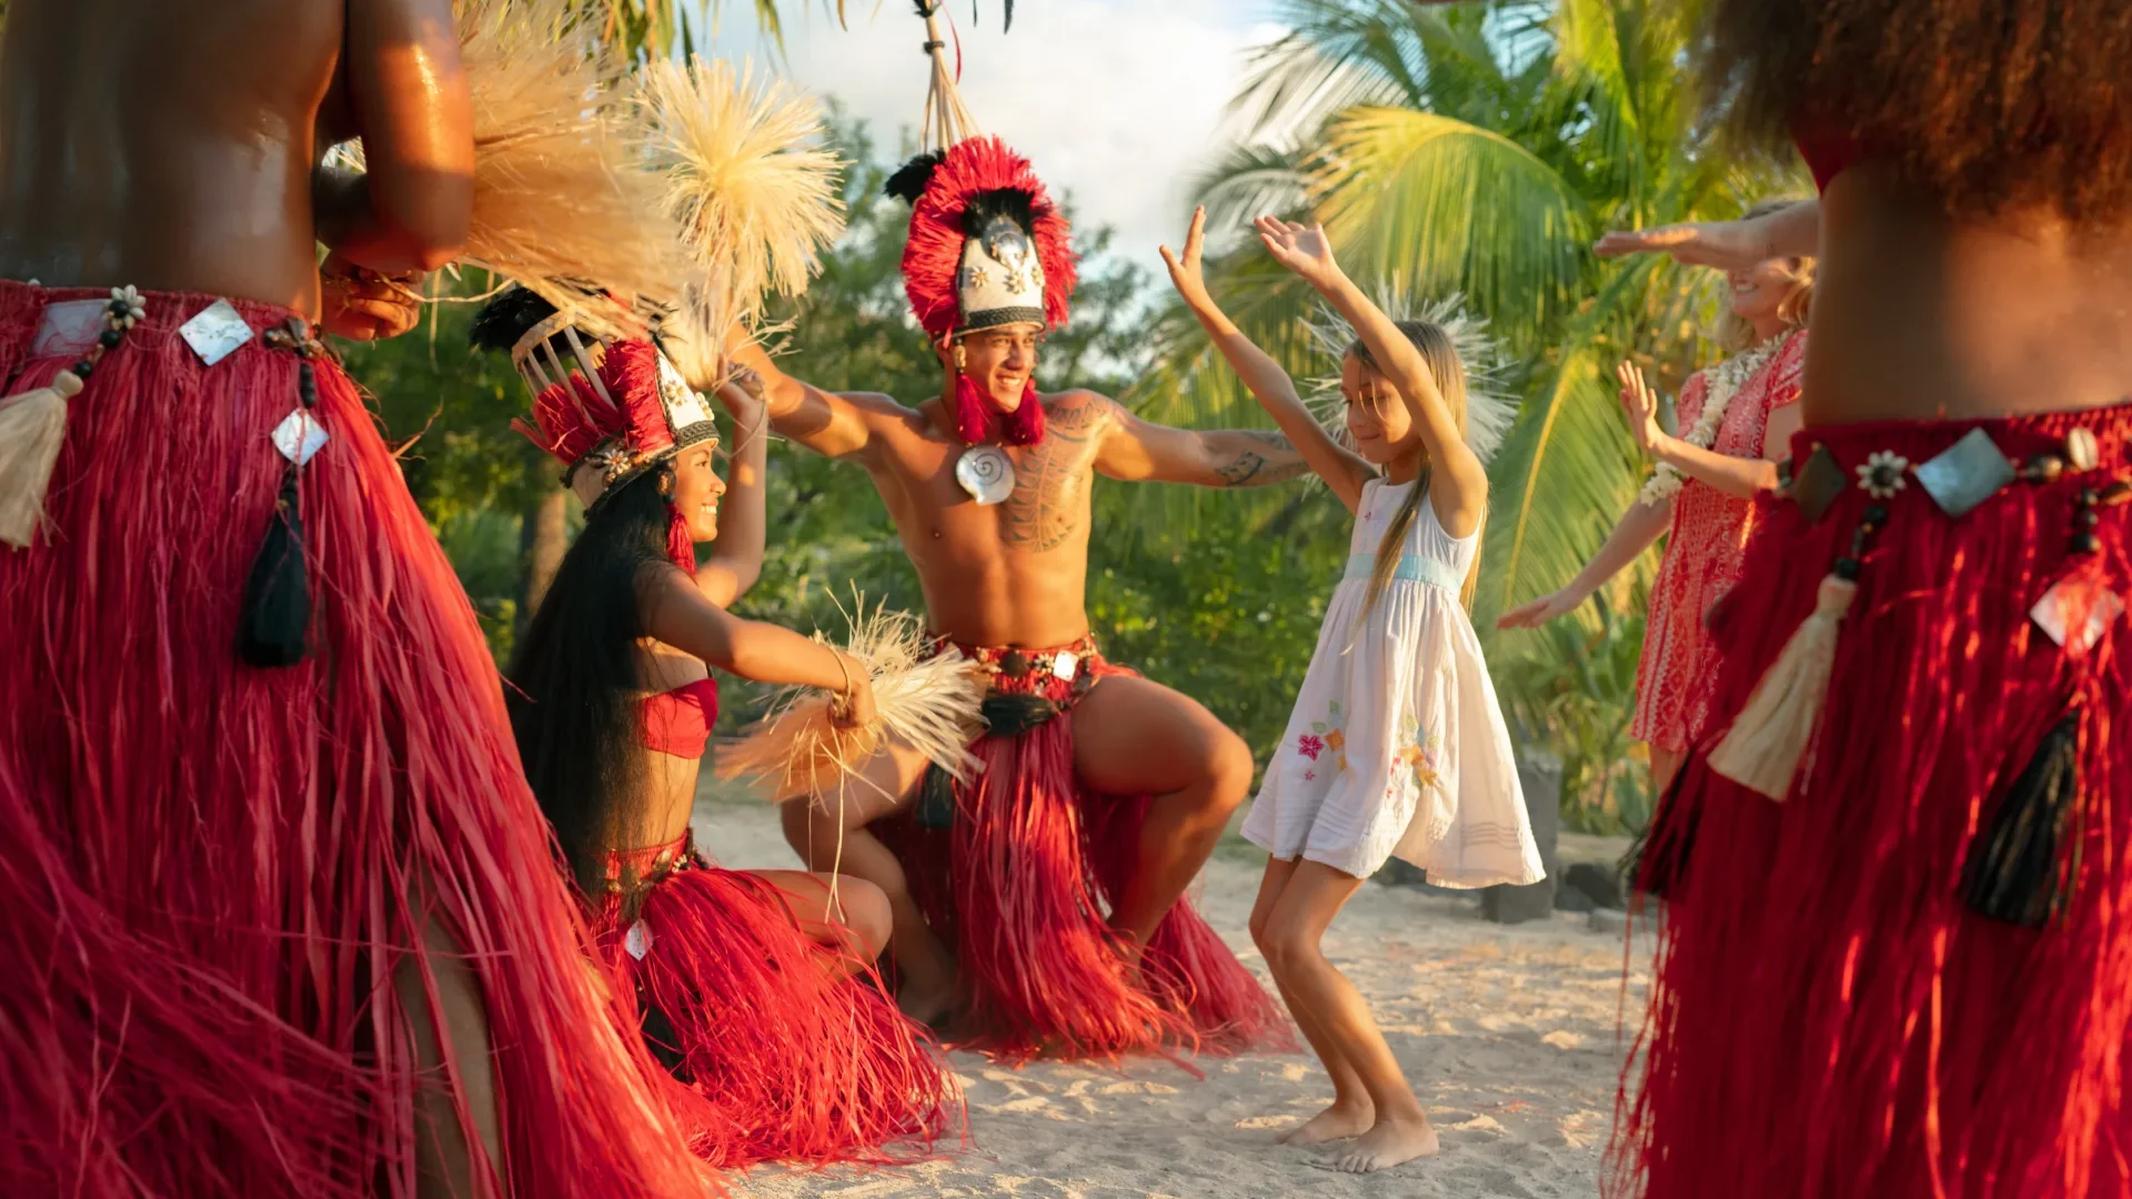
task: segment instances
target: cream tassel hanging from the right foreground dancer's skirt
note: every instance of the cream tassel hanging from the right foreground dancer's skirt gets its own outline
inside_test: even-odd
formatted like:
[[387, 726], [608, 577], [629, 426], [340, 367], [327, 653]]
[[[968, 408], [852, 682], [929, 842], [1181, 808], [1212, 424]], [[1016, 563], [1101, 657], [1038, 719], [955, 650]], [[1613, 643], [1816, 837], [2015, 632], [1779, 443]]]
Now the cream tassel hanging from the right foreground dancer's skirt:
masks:
[[1782, 802], [1799, 772], [1806, 745], [1821, 723], [1836, 670], [1836, 636], [1859, 585], [1829, 574], [1821, 580], [1814, 614], [1784, 642], [1770, 672], [1755, 685], [1731, 732], [1710, 753], [1710, 768], [1733, 783]]

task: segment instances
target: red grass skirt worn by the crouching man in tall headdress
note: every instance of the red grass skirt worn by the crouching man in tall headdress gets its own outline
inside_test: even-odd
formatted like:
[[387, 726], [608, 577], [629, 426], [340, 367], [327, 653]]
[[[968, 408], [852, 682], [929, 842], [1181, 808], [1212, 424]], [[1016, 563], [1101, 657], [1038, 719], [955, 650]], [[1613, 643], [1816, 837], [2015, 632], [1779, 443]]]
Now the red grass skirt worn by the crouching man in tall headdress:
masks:
[[[1062, 649], [1079, 655], [1077, 678], [1132, 674], [1092, 638]], [[964, 653], [996, 666], [1008, 651]], [[919, 828], [912, 813], [881, 830], [925, 920], [955, 947], [970, 996], [957, 1048], [1004, 1062], [1292, 1048], [1279, 1005], [1190, 900], [1156, 928], [1141, 977], [1124, 969], [1104, 913], [1138, 866], [1149, 798], [1079, 785], [1070, 706], [1081, 691], [1049, 670], [1060, 649], [1023, 653], [1036, 666], [1021, 678], [996, 674], [994, 691], [1066, 710], [970, 747], [985, 770], [957, 783], [953, 828]]]

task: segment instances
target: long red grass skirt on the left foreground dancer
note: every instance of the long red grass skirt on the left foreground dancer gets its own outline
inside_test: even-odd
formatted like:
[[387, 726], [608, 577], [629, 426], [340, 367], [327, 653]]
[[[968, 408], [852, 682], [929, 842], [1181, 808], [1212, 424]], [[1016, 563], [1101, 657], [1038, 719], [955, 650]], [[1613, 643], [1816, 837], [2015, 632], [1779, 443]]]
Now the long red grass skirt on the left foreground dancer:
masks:
[[[109, 297], [0, 282], [9, 393], [77, 356], [30, 352], [68, 299]], [[49, 529], [0, 550], [0, 1195], [411, 1195], [392, 977], [433, 979], [426, 922], [480, 979], [512, 1195], [699, 1195], [473, 612], [324, 363], [318, 653], [237, 659], [298, 363], [254, 339], [203, 367], [177, 326], [209, 301], [147, 297], [68, 403]]]

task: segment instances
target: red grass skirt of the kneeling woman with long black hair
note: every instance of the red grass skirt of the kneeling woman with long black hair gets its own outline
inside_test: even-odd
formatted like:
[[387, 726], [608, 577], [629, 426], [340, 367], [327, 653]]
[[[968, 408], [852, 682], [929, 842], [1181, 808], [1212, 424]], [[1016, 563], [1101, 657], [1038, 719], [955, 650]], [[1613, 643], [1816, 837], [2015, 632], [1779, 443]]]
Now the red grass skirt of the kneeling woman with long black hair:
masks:
[[831, 977], [829, 949], [768, 881], [706, 862], [687, 838], [616, 856], [612, 873], [648, 883], [633, 917], [623, 894], [608, 896], [599, 943], [642, 1005], [704, 1158], [912, 1161], [962, 1129], [938, 1045], [870, 962]]

